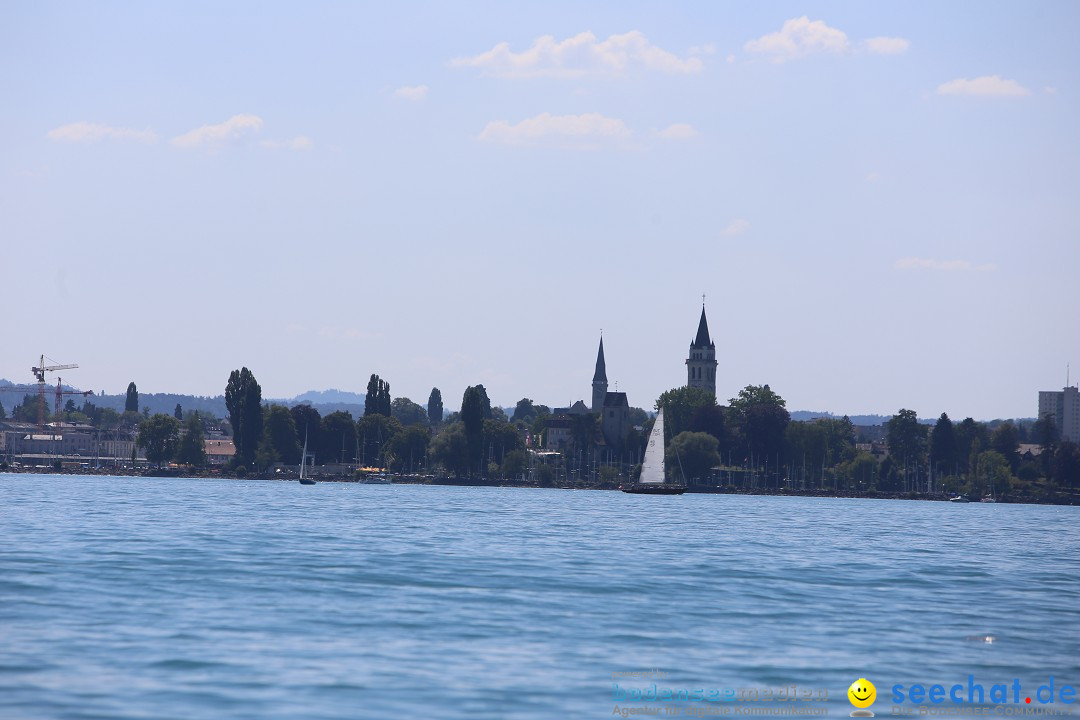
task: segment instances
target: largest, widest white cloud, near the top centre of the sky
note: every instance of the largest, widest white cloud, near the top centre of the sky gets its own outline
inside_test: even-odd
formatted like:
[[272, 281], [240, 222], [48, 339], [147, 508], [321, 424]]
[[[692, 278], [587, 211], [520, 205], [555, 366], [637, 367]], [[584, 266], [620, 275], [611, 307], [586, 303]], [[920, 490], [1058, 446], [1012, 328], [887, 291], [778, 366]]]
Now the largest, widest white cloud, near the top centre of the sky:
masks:
[[480, 68], [499, 78], [577, 77], [589, 73], [619, 73], [631, 67], [671, 73], [700, 72], [701, 58], [683, 59], [658, 47], [638, 30], [598, 40], [592, 32], [581, 32], [557, 41], [553, 36], [537, 38], [532, 46], [519, 53], [510, 43], [500, 42], [473, 57], [450, 60], [451, 67]]

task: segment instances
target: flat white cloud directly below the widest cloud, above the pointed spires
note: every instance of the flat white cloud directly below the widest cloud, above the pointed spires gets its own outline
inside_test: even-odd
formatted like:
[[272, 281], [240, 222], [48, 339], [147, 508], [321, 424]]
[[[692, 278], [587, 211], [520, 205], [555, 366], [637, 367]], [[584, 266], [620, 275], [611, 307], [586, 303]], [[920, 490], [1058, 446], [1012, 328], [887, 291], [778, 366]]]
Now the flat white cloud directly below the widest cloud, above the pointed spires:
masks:
[[625, 123], [598, 112], [580, 116], [553, 116], [542, 112], [515, 125], [504, 120], [489, 122], [481, 140], [501, 145], [552, 142], [558, 146], [592, 149], [600, 144], [620, 142], [632, 135]]

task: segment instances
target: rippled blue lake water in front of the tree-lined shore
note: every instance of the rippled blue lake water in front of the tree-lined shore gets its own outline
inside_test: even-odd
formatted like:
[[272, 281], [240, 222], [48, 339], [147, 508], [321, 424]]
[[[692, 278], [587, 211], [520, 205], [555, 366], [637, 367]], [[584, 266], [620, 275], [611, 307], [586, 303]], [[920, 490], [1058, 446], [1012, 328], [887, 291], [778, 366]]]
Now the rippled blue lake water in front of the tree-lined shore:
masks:
[[0, 718], [608, 718], [653, 682], [847, 717], [860, 677], [879, 716], [895, 683], [1080, 685], [1074, 507], [0, 475]]

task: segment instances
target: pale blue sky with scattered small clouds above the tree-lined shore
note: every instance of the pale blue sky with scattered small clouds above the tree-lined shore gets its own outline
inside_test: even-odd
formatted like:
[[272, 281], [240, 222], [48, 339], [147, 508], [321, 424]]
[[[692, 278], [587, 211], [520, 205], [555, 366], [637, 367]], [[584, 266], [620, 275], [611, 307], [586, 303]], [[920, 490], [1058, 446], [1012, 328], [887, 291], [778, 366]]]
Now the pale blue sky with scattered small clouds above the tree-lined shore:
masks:
[[[1034, 417], [1080, 3], [0, 4], [0, 378]], [[55, 381], [55, 378], [51, 378]]]

